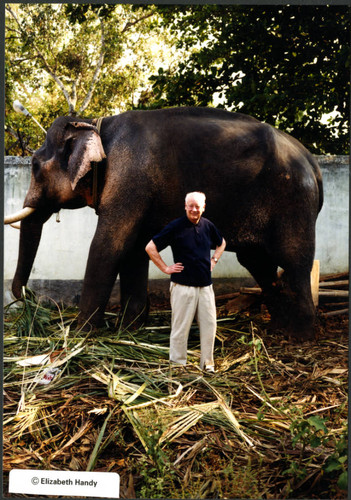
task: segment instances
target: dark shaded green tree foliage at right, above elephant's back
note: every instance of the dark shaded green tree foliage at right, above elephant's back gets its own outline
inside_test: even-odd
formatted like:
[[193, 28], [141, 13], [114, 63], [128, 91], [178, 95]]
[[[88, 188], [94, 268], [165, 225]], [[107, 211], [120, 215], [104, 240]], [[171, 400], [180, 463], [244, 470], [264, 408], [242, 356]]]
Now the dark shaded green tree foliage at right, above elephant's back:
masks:
[[189, 55], [175, 69], [159, 69], [149, 106], [225, 107], [291, 133], [314, 153], [348, 153], [349, 7], [158, 11]]

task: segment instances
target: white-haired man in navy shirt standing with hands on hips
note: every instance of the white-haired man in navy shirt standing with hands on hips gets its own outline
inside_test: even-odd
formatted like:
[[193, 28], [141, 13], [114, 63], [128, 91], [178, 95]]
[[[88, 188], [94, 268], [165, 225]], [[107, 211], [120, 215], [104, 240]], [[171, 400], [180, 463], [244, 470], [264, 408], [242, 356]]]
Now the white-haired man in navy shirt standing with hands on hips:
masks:
[[[226, 243], [215, 225], [201, 217], [205, 202], [204, 193], [188, 193], [186, 215], [170, 222], [145, 250], [161, 271], [171, 275], [170, 361], [186, 364], [189, 331], [196, 317], [200, 329], [200, 368], [214, 372], [216, 304], [211, 272]], [[167, 266], [159, 253], [167, 246], [171, 246], [175, 262], [171, 266]], [[215, 249], [212, 257], [211, 249]]]

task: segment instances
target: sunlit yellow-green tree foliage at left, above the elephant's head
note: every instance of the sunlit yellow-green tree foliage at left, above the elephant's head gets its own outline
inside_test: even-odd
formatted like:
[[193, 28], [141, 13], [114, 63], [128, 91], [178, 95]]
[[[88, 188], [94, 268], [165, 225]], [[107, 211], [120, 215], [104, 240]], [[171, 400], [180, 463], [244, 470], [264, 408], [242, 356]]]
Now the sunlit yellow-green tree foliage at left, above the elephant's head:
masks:
[[153, 51], [157, 19], [152, 6], [7, 4], [5, 150], [28, 154], [43, 141], [37, 125], [13, 111], [15, 99], [44, 128], [60, 115], [136, 106], [160, 59]]

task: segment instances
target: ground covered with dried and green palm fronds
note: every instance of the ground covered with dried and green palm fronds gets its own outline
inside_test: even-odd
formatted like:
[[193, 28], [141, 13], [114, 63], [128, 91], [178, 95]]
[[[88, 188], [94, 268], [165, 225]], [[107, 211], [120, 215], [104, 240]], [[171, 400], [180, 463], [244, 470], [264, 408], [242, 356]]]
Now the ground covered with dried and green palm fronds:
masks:
[[[346, 498], [346, 315], [318, 341], [266, 332], [260, 310], [220, 318], [216, 373], [168, 363], [169, 311], [138, 331], [29, 291], [5, 311], [4, 496], [13, 468], [118, 472], [123, 498]], [[44, 383], [46, 382], [46, 383]]]

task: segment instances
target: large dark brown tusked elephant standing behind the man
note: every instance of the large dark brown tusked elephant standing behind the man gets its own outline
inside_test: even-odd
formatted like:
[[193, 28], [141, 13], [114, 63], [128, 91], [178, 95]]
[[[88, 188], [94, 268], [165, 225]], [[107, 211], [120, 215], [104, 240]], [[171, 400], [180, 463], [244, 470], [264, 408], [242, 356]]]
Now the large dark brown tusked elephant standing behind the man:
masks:
[[[285, 132], [243, 113], [206, 107], [131, 110], [100, 119], [61, 116], [32, 156], [21, 220], [15, 297], [29, 278], [43, 224], [61, 208], [98, 215], [79, 303], [81, 323], [101, 325], [119, 274], [121, 307], [145, 318], [145, 245], [206, 194], [206, 217], [262, 288], [275, 328], [304, 340], [316, 310], [310, 272], [323, 204], [313, 155]], [[278, 268], [283, 273], [277, 273]]]

